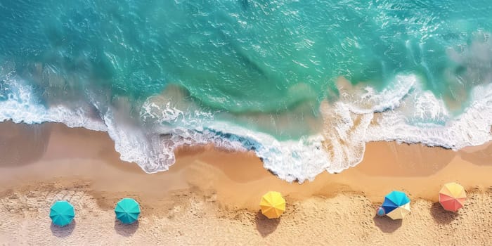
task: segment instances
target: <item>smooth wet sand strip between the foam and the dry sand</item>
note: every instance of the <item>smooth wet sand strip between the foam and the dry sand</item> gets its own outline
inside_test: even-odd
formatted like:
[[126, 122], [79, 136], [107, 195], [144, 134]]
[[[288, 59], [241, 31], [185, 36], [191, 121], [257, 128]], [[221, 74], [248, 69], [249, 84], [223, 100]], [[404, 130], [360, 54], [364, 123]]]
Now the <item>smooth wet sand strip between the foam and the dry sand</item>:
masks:
[[[296, 200], [309, 198], [311, 195], [330, 196], [343, 190], [364, 194], [376, 202], [380, 202], [380, 198], [391, 189], [405, 190], [415, 198], [436, 202], [435, 194], [439, 191], [441, 182], [446, 180], [462, 183], [467, 189], [477, 186], [492, 187], [492, 181], [485, 175], [492, 173], [492, 162], [488, 163], [488, 158], [492, 156], [491, 143], [453, 151], [406, 143], [370, 142], [366, 145], [363, 161], [356, 167], [338, 174], [323, 171], [314, 181], [288, 183], [264, 169], [261, 160], [254, 153], [221, 150], [212, 145], [179, 148], [176, 151], [176, 163], [168, 171], [147, 174], [137, 164], [119, 160], [119, 153], [115, 152], [112, 140], [102, 131], [69, 128], [59, 123], [44, 123], [33, 127], [4, 122], [0, 123], [0, 135], [4, 136], [4, 146], [7, 142], [9, 145], [8, 148], [3, 148], [4, 153], [0, 153], [0, 168], [4, 174], [13, 174], [6, 177], [4, 175], [4, 179], [0, 181], [2, 187], [16, 186], [26, 179], [37, 181], [75, 176], [96, 181], [95, 188], [113, 191], [118, 188], [105, 187], [98, 181], [106, 179], [105, 184], [114, 185], [117, 183], [115, 179], [125, 178], [130, 181], [145, 179], [153, 182], [151, 186], [155, 187], [164, 182], [168, 193], [199, 186], [203, 190], [217, 190], [225, 196], [231, 194], [227, 194], [228, 190], [221, 187], [231, 188], [229, 191], [232, 191], [234, 187], [231, 186], [236, 186], [242, 193], [247, 191], [243, 187], [247, 183], [257, 191], [260, 188], [256, 185], [259, 184], [277, 188], [286, 194], [292, 193], [292, 198]], [[15, 160], [8, 160], [8, 157]], [[47, 165], [53, 166], [50, 172], [41, 171], [41, 167], [48, 169]], [[96, 173], [93, 169], [99, 169], [108, 175]], [[467, 173], [463, 174], [460, 172], [462, 170]], [[13, 177], [16, 179], [12, 179]], [[425, 187], [429, 183], [431, 185]], [[330, 185], [339, 187], [330, 188]], [[130, 187], [119, 188], [124, 190]], [[150, 187], [148, 190], [151, 190]], [[145, 192], [149, 192], [148, 190]], [[263, 188], [261, 192], [264, 190], [268, 188]], [[254, 202], [251, 207], [241, 208], [256, 207]]]

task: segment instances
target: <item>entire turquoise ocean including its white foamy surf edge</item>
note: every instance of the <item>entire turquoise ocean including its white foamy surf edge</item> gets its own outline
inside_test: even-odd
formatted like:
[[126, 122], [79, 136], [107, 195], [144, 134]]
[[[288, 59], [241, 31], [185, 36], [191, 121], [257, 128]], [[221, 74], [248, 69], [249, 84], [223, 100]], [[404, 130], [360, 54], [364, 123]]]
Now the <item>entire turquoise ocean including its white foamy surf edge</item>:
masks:
[[[472, 0], [0, 1], [0, 122], [107, 131], [169, 169], [254, 151], [286, 181], [365, 143], [492, 140], [492, 5]], [[234, 163], [231, 163], [233, 165]]]

